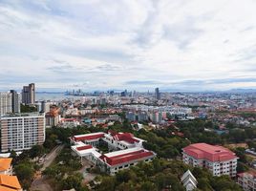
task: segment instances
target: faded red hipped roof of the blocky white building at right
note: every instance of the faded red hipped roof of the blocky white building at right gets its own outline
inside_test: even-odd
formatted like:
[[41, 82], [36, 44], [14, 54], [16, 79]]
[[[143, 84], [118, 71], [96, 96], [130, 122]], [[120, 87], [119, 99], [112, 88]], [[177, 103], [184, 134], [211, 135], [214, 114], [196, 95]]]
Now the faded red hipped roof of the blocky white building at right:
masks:
[[236, 159], [236, 155], [223, 146], [214, 146], [206, 143], [190, 144], [183, 148], [183, 152], [194, 159], [207, 159], [209, 161], [225, 161]]

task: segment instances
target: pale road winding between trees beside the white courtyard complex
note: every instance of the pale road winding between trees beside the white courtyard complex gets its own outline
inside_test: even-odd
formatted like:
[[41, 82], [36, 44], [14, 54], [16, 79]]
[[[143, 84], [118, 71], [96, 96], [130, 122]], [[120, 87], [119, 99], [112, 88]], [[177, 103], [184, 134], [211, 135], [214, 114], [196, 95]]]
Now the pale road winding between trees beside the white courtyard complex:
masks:
[[[43, 167], [40, 169], [40, 171], [44, 171], [47, 167], [49, 167], [52, 163], [53, 160], [57, 157], [57, 155], [59, 154], [59, 152], [63, 149], [64, 145], [59, 145], [56, 146], [55, 148], [53, 148], [53, 150], [51, 151], [51, 153], [49, 153], [46, 157], [45, 157], [45, 162], [43, 163]], [[38, 177], [37, 179], [32, 181], [32, 187], [31, 187], [32, 191], [53, 191], [53, 188], [51, 187], [51, 185], [46, 181], [45, 177]]]

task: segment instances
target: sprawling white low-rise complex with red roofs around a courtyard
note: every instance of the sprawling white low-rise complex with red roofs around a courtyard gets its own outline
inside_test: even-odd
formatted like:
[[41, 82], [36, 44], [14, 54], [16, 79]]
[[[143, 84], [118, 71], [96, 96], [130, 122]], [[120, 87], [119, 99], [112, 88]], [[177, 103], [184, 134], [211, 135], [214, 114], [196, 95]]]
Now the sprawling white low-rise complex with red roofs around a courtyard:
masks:
[[[135, 138], [130, 133], [110, 131], [75, 136], [71, 138], [72, 150], [81, 158], [86, 158], [98, 166], [101, 171], [115, 175], [119, 170], [136, 165], [139, 161], [150, 161], [156, 157], [152, 151], [143, 148], [143, 139]], [[100, 142], [108, 145], [107, 154], [101, 154], [96, 148]]]

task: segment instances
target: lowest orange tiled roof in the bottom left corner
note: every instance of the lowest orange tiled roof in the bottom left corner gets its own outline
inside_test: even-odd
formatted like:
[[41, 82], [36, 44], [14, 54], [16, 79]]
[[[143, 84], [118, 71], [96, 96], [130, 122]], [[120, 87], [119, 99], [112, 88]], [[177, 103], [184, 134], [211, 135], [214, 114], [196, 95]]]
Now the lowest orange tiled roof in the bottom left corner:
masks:
[[14, 190], [21, 189], [21, 185], [16, 176], [0, 175], [0, 185]]

